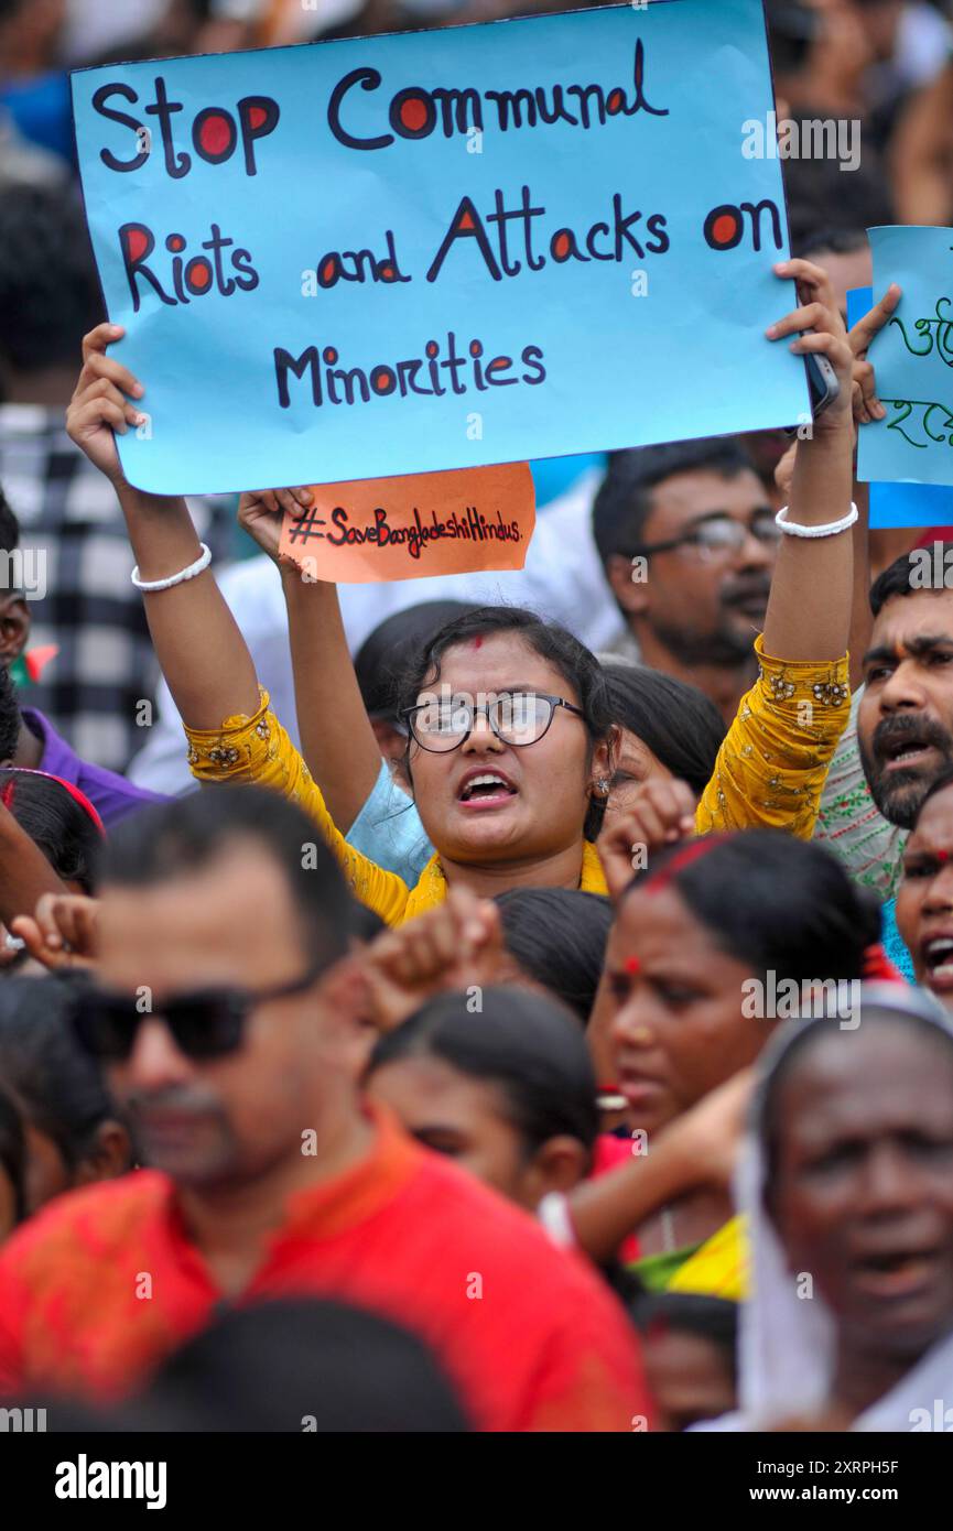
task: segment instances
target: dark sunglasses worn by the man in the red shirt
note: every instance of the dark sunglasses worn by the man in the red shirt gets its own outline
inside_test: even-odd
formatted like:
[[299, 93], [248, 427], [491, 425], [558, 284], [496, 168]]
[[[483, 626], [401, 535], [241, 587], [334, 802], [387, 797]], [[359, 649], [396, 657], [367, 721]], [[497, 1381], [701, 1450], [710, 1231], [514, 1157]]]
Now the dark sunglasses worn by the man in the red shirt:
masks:
[[311, 963], [300, 977], [271, 989], [195, 989], [170, 995], [152, 1009], [144, 1009], [135, 994], [78, 983], [70, 1010], [72, 1029], [80, 1046], [101, 1063], [124, 1063], [141, 1023], [150, 1020], [169, 1027], [187, 1058], [224, 1058], [242, 1046], [245, 1023], [259, 1004], [303, 994], [320, 971], [322, 963]]

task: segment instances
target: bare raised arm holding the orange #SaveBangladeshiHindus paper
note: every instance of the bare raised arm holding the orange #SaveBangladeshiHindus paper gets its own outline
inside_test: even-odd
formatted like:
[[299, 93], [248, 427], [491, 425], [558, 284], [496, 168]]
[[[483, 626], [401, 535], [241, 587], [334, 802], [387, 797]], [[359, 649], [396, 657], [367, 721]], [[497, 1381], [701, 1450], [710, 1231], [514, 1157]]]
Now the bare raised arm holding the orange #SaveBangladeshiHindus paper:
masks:
[[351, 663], [337, 586], [308, 579], [279, 554], [283, 511], [300, 516], [309, 502], [308, 488], [242, 495], [239, 521], [280, 570], [302, 755], [346, 833], [374, 790], [380, 750]]

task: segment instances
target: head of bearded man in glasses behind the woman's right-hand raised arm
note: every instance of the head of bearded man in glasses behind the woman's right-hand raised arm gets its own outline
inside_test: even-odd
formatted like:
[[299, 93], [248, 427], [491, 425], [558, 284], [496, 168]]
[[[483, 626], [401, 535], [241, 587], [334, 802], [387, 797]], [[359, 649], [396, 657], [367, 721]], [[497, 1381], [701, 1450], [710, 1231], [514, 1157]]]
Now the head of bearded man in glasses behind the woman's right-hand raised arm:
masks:
[[628, 626], [613, 652], [689, 681], [731, 723], [780, 540], [751, 459], [731, 439], [616, 452], [593, 534]]

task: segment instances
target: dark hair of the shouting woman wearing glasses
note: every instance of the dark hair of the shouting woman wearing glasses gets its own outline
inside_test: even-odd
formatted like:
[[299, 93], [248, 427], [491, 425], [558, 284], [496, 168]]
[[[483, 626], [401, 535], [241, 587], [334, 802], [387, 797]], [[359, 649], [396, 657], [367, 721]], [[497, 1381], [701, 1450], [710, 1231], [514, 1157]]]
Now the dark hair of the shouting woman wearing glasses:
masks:
[[[556, 622], [545, 622], [532, 611], [521, 606], [478, 606], [464, 617], [447, 622], [446, 626], [421, 649], [417, 663], [408, 671], [401, 686], [401, 707], [412, 707], [418, 694], [440, 680], [440, 664], [447, 649], [473, 638], [495, 637], [499, 632], [516, 634], [539, 658], [559, 671], [562, 678], [571, 686], [579, 700], [585, 729], [591, 750], [596, 744], [611, 738], [613, 713], [608, 700], [608, 687], [602, 666], [594, 654], [584, 643], [579, 643], [565, 628]], [[411, 741], [404, 767], [408, 779], [411, 775]], [[587, 841], [594, 841], [605, 816], [605, 802], [593, 799], [585, 816], [582, 833]]]

